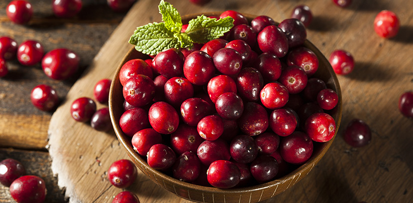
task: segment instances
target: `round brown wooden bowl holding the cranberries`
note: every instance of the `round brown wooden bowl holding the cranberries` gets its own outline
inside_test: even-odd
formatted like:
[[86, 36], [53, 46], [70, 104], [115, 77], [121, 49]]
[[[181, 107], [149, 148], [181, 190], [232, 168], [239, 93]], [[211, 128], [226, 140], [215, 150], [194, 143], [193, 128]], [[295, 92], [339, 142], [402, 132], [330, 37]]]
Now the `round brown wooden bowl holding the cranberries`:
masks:
[[[183, 23], [188, 23], [190, 19], [196, 18], [201, 14], [185, 15], [182, 17]], [[219, 16], [220, 12], [209, 12], [205, 13], [206, 16]], [[256, 16], [245, 14], [249, 21], [254, 19]], [[125, 42], [126, 43], [126, 42]], [[337, 106], [329, 111], [328, 113], [334, 118], [336, 123], [336, 133], [338, 127], [340, 126], [341, 113], [342, 113], [342, 102], [341, 102], [341, 90], [338, 84], [337, 77], [331, 68], [327, 59], [321, 54], [321, 52], [309, 41], [304, 44], [305, 47], [312, 50], [315, 55], [317, 55], [319, 60], [319, 67], [314, 77], [320, 78], [325, 81], [327, 88], [333, 89], [338, 94], [338, 104]], [[109, 111], [110, 119], [118, 137], [120, 143], [125, 147], [129, 157], [136, 164], [136, 166], [147, 175], [153, 182], [158, 184], [160, 187], [168, 190], [177, 196], [200, 203], [256, 203], [269, 198], [272, 198], [289, 187], [292, 187], [298, 181], [303, 179], [307, 174], [310, 173], [311, 169], [318, 163], [318, 161], [324, 156], [325, 152], [330, 147], [333, 139], [324, 143], [315, 143], [314, 150], [310, 159], [296, 170], [290, 172], [289, 174], [260, 185], [255, 185], [251, 187], [244, 188], [234, 188], [234, 189], [218, 189], [212, 187], [203, 187], [186, 182], [179, 181], [171, 176], [165, 175], [164, 173], [151, 168], [144, 157], [141, 157], [137, 152], [133, 150], [131, 144], [131, 137], [123, 134], [119, 127], [119, 118], [123, 113], [123, 94], [122, 85], [119, 81], [119, 70], [124, 63], [131, 59], [147, 59], [147, 55], [137, 52], [134, 47], [131, 46], [130, 51], [123, 58], [122, 62], [117, 67], [116, 73], [113, 76], [112, 84], [110, 86], [109, 92]]]

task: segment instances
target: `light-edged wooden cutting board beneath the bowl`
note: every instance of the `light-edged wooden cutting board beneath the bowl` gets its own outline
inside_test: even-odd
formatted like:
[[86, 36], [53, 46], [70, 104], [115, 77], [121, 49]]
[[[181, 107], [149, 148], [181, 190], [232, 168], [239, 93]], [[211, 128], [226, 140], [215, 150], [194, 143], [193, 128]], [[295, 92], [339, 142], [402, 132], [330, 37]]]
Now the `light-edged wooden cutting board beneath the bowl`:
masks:
[[[200, 7], [188, 0], [170, 2], [181, 14], [236, 9], [268, 15], [277, 21], [289, 17], [293, 7], [299, 3], [213, 0]], [[372, 128], [373, 141], [368, 147], [354, 149], [341, 137], [336, 138], [306, 178], [265, 203], [276, 200], [286, 203], [412, 201], [413, 159], [410, 147], [413, 125], [411, 120], [400, 116], [396, 104], [401, 92], [412, 90], [413, 60], [408, 50], [412, 52], [413, 46], [408, 31], [412, 30], [413, 16], [408, 6], [403, 6], [409, 3], [408, 0], [398, 2], [391, 8], [405, 13], [402, 23], [408, 25], [403, 28], [407, 33], [400, 33], [396, 40], [384, 40], [375, 36], [372, 29], [354, 30], [349, 25], [353, 28], [372, 26], [375, 12], [371, 11], [380, 9], [369, 7], [376, 5], [373, 0], [353, 2], [350, 9], [338, 8], [325, 0], [306, 1], [315, 16], [308, 31], [310, 41], [326, 55], [334, 49], [347, 49], [357, 61], [358, 70], [347, 77], [339, 77], [344, 106], [342, 126], [345, 127], [354, 117], [363, 119]], [[110, 203], [122, 191], [111, 186], [106, 171], [113, 161], [128, 158], [125, 150], [113, 132], [97, 132], [87, 123], [75, 122], [69, 113], [70, 105], [79, 97], [93, 98], [95, 83], [102, 78], [112, 78], [118, 63], [131, 47], [127, 40], [134, 29], [161, 20], [158, 3], [157, 0], [138, 0], [134, 4], [51, 118], [48, 134], [52, 170], [58, 176], [59, 187], [66, 189], [71, 203]], [[104, 105], [98, 105], [98, 108], [102, 107]], [[161, 189], [140, 172], [127, 190], [136, 193], [141, 203], [189, 203]]]

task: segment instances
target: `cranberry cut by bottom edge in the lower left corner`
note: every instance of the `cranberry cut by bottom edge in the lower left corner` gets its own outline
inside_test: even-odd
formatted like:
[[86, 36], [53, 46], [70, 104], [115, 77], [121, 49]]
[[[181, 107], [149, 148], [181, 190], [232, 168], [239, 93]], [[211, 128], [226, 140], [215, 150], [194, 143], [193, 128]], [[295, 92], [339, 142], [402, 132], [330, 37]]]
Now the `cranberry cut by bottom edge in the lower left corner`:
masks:
[[43, 203], [46, 184], [37, 176], [22, 176], [10, 185], [10, 195], [17, 203]]

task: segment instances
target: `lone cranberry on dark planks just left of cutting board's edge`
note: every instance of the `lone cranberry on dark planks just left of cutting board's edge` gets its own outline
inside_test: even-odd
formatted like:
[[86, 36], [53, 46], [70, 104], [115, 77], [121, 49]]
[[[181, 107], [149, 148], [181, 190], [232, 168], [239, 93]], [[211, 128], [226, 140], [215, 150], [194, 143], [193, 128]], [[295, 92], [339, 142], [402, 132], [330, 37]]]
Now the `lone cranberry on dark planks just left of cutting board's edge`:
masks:
[[59, 102], [56, 91], [46, 84], [39, 84], [31, 90], [31, 103], [42, 111], [55, 109]]

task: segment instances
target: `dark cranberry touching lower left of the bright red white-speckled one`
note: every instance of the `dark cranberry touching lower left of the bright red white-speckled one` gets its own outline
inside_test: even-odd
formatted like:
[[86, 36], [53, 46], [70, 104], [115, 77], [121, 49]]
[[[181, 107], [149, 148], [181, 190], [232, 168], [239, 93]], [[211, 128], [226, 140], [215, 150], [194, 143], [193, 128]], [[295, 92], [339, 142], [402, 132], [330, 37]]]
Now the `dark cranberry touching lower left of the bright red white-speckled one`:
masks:
[[245, 104], [244, 113], [238, 119], [238, 125], [247, 135], [260, 135], [269, 125], [267, 111], [257, 103], [248, 102]]

